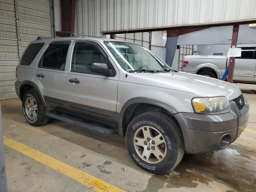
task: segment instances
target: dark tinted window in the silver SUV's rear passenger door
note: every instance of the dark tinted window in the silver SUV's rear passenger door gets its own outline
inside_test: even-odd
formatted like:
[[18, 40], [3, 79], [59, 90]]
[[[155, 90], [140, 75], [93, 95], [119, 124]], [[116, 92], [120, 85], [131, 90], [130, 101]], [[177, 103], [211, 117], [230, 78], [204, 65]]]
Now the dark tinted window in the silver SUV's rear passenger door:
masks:
[[52, 42], [40, 59], [38, 67], [64, 71], [69, 45], [70, 41]]

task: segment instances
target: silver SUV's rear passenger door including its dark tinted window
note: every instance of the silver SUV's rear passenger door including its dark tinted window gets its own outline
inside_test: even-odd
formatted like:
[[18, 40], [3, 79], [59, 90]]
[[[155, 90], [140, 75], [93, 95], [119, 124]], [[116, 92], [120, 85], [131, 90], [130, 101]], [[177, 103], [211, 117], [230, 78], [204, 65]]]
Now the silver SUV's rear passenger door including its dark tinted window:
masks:
[[66, 61], [71, 41], [51, 42], [34, 71], [33, 82], [41, 90], [46, 106], [66, 109]]

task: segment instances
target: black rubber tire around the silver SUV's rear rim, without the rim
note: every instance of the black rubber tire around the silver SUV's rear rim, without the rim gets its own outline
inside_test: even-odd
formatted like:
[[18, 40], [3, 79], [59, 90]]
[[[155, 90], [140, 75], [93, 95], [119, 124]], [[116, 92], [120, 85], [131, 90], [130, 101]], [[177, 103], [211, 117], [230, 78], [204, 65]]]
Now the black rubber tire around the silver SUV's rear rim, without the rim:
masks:
[[[28, 97], [32, 97], [34, 101], [37, 104], [37, 116], [35, 119], [31, 119], [28, 114], [26, 113], [25, 103]], [[49, 122], [50, 117], [46, 116], [46, 112], [44, 110], [44, 105], [42, 104], [42, 101], [40, 100], [38, 93], [36, 90], [30, 89], [28, 90], [22, 99], [22, 111], [24, 114], [24, 117], [26, 118], [27, 122], [32, 126], [41, 126], [45, 125]]]

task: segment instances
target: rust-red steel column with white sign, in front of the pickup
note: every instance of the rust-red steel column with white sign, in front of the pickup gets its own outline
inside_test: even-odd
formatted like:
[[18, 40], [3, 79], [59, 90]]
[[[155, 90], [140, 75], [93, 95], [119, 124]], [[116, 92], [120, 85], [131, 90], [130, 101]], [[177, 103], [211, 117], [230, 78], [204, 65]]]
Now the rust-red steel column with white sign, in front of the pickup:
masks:
[[[237, 37], [238, 37], [238, 30], [239, 30], [239, 25], [234, 24], [233, 25], [233, 32], [232, 32], [232, 40], [231, 40], [231, 48], [232, 46], [236, 46], [237, 43]], [[234, 68], [235, 68], [235, 57], [230, 57], [229, 58], [229, 69], [228, 69], [228, 82], [232, 83], [233, 82], [233, 75], [234, 75]]]

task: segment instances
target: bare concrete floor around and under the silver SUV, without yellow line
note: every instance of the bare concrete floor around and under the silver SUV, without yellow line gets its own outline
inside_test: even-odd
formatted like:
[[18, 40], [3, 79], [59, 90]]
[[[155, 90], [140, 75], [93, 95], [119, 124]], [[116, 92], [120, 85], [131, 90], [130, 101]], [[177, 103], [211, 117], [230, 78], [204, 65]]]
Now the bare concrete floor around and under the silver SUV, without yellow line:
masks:
[[[250, 102], [248, 129], [228, 148], [188, 155], [174, 171], [156, 176], [138, 168], [124, 138], [88, 132], [58, 120], [30, 126], [18, 99], [1, 101], [4, 136], [129, 192], [256, 191], [256, 95]], [[81, 158], [81, 155], [85, 154]], [[5, 147], [9, 192], [91, 192], [92, 189]]]

